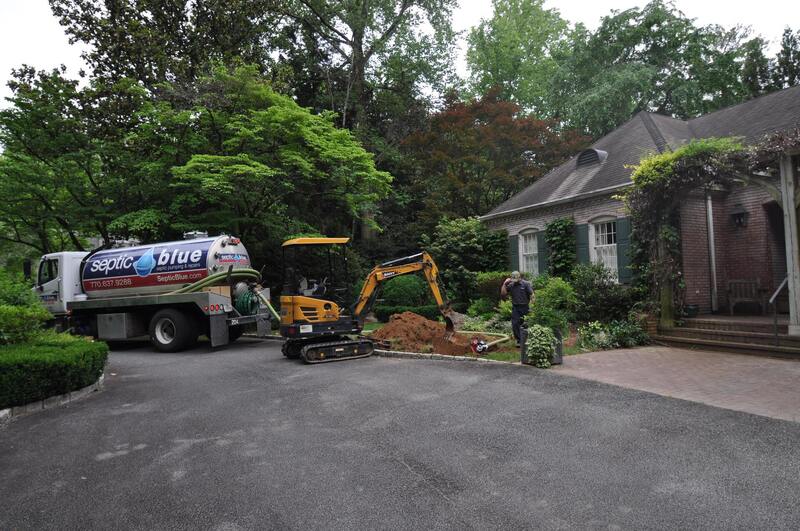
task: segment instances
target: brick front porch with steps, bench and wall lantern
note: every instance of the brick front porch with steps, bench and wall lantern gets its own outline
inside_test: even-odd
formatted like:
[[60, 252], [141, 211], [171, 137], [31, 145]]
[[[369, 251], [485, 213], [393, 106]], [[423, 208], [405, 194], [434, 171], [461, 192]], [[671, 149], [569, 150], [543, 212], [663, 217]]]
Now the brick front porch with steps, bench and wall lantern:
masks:
[[800, 359], [800, 157], [779, 158], [779, 175], [698, 190], [681, 204], [685, 313], [674, 326], [662, 320], [657, 340]]

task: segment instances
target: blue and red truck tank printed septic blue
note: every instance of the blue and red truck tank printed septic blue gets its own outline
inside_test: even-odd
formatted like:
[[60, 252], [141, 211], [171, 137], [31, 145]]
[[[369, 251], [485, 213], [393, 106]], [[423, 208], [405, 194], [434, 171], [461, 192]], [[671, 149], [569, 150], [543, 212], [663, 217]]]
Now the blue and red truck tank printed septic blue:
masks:
[[86, 260], [83, 291], [90, 299], [168, 293], [230, 266], [250, 267], [239, 240], [216, 236], [106, 249]]

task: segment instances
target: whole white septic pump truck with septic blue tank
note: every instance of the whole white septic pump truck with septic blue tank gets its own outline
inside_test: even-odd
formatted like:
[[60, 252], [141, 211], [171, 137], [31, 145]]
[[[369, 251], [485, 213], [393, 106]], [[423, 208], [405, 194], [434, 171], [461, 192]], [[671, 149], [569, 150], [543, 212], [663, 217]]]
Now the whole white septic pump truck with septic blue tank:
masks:
[[267, 335], [268, 290], [233, 236], [42, 256], [35, 292], [61, 329], [104, 340], [149, 336], [175, 352], [206, 335], [211, 346], [236, 340], [255, 323]]

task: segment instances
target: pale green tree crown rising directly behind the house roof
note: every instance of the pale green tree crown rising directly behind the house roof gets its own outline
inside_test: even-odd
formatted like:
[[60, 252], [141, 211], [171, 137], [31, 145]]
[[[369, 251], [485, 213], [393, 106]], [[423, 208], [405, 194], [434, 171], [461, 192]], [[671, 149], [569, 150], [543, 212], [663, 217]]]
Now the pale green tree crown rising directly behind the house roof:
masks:
[[554, 78], [553, 116], [599, 136], [638, 111], [697, 116], [741, 101], [747, 30], [698, 27], [673, 4], [612, 12], [577, 28]]

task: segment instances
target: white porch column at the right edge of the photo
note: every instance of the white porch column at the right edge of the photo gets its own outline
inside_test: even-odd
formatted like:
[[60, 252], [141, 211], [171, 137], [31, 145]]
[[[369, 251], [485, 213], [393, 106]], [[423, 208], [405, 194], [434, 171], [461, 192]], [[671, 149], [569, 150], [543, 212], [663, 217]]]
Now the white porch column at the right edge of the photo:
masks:
[[789, 335], [800, 336], [800, 235], [797, 230], [797, 168], [792, 153], [781, 156], [781, 196], [783, 225], [786, 233], [786, 272], [789, 277]]

